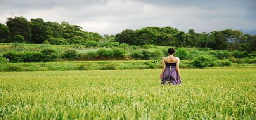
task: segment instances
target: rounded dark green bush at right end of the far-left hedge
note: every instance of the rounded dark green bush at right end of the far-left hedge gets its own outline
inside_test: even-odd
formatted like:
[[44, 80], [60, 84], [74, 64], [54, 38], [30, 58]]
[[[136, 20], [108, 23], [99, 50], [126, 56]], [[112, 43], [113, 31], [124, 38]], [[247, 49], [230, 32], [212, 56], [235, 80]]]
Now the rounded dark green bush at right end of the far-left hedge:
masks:
[[40, 52], [42, 53], [42, 62], [55, 61], [58, 58], [56, 51], [53, 49], [45, 48]]

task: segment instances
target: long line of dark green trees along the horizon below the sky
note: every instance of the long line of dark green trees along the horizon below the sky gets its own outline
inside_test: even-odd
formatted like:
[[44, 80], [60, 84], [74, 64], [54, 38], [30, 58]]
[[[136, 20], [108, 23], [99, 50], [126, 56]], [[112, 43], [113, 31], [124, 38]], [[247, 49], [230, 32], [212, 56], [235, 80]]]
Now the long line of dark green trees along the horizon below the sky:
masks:
[[173, 27], [144, 27], [126, 29], [116, 35], [100, 35], [95, 32], [82, 31], [82, 27], [68, 22], [45, 22], [42, 18], [24, 17], [7, 18], [6, 25], [0, 24], [0, 42], [2, 43], [48, 43], [56, 45], [95, 44], [97, 42], [118, 42], [142, 46], [212, 48], [214, 50], [255, 51], [256, 35], [244, 34], [238, 30], [226, 29], [209, 33], [188, 33]]

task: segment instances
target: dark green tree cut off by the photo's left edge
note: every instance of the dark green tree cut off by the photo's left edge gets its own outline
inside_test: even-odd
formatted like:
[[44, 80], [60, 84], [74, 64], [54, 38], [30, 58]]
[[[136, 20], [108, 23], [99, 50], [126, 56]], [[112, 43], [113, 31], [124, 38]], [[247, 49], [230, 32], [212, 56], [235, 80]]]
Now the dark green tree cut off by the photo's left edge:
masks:
[[10, 31], [7, 26], [0, 23], [0, 43], [5, 43], [10, 37]]

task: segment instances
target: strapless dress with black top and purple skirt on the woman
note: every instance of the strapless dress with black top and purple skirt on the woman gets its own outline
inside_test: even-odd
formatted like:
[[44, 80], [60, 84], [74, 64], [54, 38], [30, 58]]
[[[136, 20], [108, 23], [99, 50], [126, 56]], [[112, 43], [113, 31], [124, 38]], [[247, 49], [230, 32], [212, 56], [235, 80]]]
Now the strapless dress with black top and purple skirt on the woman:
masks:
[[182, 81], [178, 75], [177, 70], [175, 69], [176, 63], [165, 63], [166, 69], [164, 70], [161, 84], [181, 84]]

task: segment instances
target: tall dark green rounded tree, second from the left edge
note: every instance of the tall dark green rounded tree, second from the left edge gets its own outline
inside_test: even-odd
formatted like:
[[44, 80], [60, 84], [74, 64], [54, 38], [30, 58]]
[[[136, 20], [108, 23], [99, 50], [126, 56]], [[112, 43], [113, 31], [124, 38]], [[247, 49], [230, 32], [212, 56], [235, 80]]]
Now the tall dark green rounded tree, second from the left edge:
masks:
[[10, 30], [10, 37], [14, 40], [14, 36], [20, 34], [28, 43], [31, 43], [31, 27], [24, 17], [7, 18], [6, 25]]

